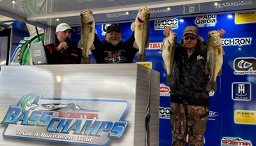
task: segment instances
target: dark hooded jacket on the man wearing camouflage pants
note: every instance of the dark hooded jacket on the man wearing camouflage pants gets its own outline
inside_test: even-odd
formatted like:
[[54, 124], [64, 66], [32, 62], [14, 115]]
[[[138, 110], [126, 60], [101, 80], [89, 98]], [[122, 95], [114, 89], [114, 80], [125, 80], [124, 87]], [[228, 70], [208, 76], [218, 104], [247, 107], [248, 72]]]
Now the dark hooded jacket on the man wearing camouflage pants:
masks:
[[206, 47], [197, 48], [187, 55], [181, 42], [177, 43], [175, 51], [175, 68], [173, 69], [175, 83], [171, 85], [170, 101], [187, 105], [209, 105], [209, 94], [206, 90], [208, 75], [204, 72], [206, 64]]

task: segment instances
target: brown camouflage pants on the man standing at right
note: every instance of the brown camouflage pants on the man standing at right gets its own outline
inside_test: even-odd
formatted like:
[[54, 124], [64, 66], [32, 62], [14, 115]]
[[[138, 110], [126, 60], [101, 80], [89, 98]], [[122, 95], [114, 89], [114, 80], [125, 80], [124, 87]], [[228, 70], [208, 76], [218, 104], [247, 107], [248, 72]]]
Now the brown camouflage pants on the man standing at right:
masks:
[[204, 106], [171, 103], [171, 146], [185, 146], [187, 135], [190, 146], [204, 145], [208, 112]]

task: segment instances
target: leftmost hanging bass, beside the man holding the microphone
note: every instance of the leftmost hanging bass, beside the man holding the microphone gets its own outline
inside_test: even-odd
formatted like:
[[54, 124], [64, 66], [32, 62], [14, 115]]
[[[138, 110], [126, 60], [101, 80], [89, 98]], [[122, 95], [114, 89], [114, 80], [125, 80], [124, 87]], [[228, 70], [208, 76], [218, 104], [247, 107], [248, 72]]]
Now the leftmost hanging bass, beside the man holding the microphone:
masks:
[[81, 38], [78, 42], [78, 48], [83, 46], [83, 57], [81, 64], [90, 64], [89, 52], [94, 49], [93, 41], [96, 32], [94, 17], [89, 9], [82, 10], [80, 13], [81, 19]]

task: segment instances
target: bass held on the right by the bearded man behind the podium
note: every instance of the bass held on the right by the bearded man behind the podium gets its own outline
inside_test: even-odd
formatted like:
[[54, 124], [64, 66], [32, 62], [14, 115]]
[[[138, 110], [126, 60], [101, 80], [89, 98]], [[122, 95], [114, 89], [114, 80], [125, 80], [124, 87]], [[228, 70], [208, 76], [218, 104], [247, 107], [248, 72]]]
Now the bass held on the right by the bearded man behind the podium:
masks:
[[135, 37], [134, 47], [139, 50], [137, 61], [145, 61], [145, 48], [148, 48], [149, 45], [149, 18], [150, 10], [146, 6], [143, 6], [138, 9], [135, 22], [131, 26], [131, 29], [134, 30]]

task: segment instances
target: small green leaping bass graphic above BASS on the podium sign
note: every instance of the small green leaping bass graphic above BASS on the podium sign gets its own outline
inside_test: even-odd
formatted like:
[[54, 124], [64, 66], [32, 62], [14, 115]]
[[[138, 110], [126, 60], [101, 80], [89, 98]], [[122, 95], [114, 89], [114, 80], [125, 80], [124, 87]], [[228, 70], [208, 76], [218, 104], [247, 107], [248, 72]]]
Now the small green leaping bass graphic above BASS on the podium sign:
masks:
[[24, 110], [34, 110], [37, 108], [37, 103], [40, 97], [40, 94], [27, 94], [26, 96], [23, 96], [20, 101], [22, 112], [24, 112]]

